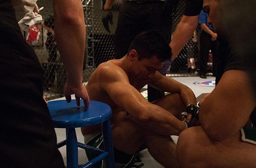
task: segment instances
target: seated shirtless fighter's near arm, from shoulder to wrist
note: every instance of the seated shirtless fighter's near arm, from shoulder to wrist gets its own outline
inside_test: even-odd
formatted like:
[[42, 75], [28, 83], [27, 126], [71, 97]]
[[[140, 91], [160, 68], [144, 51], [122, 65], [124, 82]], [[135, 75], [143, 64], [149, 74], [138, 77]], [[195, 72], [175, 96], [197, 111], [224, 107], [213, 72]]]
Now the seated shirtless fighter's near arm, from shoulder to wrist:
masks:
[[102, 68], [99, 81], [116, 105], [131, 114], [132, 118], [161, 135], [179, 135], [186, 126], [169, 111], [149, 103], [130, 85], [125, 72], [113, 71], [113, 68]]

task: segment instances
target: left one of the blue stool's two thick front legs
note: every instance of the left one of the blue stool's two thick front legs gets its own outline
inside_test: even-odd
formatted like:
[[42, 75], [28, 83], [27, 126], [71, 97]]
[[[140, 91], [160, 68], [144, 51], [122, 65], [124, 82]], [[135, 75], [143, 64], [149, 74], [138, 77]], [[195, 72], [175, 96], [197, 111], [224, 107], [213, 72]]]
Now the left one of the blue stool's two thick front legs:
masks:
[[78, 168], [78, 146], [75, 128], [67, 128], [67, 168]]

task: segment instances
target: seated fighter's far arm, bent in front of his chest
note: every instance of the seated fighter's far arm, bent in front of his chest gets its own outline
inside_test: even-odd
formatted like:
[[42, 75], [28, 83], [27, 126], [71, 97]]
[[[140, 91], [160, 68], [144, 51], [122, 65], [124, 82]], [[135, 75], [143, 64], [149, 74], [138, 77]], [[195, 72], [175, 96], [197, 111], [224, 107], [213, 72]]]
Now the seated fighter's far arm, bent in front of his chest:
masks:
[[149, 85], [152, 85], [154, 88], [157, 88], [161, 91], [180, 94], [180, 97], [182, 98], [185, 105], [197, 104], [195, 94], [190, 88], [170, 77], [161, 75], [158, 71], [156, 71]]

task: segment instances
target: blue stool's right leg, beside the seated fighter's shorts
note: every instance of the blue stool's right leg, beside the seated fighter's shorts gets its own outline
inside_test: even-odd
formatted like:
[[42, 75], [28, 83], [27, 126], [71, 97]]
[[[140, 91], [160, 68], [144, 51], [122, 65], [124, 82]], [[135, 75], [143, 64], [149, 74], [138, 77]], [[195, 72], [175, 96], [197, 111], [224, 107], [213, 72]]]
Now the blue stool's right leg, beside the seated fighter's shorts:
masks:
[[109, 120], [102, 123], [102, 135], [105, 151], [109, 153], [108, 157], [106, 158], [106, 166], [107, 168], [115, 168], [112, 133]]

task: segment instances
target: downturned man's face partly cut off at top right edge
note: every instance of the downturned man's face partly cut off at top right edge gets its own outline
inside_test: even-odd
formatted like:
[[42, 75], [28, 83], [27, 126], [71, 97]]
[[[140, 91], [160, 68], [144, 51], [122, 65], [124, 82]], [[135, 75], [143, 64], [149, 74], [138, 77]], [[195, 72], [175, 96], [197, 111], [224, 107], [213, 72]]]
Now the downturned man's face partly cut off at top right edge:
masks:
[[220, 12], [221, 12], [220, 0], [204, 0], [203, 10], [207, 12], [209, 20], [216, 31], [220, 28]]

